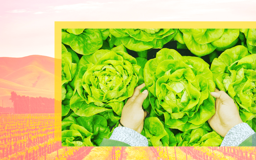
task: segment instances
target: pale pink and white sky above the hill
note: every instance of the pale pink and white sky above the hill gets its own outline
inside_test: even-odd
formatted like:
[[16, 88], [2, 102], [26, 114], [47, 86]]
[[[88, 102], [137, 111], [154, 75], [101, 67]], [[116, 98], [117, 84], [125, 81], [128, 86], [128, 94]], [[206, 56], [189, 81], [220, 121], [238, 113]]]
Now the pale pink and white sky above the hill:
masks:
[[54, 57], [54, 21], [256, 21], [256, 0], [8, 0], [0, 57]]

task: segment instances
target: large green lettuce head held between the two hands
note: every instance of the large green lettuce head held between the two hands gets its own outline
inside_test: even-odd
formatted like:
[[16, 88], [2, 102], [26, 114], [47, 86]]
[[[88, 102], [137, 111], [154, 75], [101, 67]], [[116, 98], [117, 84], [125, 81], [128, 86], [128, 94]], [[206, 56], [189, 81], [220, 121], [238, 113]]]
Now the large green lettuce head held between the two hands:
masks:
[[153, 111], [169, 128], [195, 129], [215, 113], [213, 75], [199, 57], [161, 49], [145, 64], [144, 80]]

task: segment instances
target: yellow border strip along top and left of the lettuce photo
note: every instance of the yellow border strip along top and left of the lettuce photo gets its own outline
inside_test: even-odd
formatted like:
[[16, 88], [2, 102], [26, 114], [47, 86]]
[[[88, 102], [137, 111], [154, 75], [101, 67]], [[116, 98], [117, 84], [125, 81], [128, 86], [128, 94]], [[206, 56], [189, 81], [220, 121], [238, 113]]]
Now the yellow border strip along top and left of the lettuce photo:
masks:
[[[55, 22], [54, 98], [55, 140], [61, 140], [61, 29], [62, 28], [256, 28], [256, 22]], [[60, 125], [60, 126], [58, 126]]]

